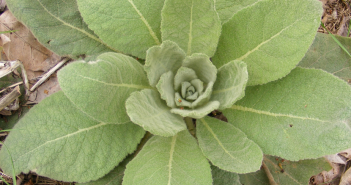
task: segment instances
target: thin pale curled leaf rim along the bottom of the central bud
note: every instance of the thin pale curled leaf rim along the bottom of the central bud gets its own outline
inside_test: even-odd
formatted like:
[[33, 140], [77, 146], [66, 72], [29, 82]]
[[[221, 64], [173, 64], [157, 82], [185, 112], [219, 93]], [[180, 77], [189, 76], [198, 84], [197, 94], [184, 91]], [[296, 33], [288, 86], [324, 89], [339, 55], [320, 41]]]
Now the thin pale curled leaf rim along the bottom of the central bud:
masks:
[[219, 102], [218, 101], [209, 101], [208, 103], [196, 107], [195, 109], [180, 109], [180, 108], [173, 108], [171, 112], [174, 114], [179, 114], [182, 117], [191, 117], [195, 119], [200, 119], [215, 109], [218, 109]]

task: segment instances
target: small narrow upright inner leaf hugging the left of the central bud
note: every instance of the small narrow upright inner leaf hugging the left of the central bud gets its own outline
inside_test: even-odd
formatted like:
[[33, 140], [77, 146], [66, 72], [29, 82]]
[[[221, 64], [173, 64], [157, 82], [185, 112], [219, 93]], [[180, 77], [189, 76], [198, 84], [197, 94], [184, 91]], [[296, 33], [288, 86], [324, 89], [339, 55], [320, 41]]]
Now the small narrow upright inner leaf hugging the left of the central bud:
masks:
[[156, 88], [161, 95], [161, 98], [167, 102], [167, 106], [174, 108], [174, 87], [173, 87], [174, 75], [172, 71], [163, 73], [158, 81]]

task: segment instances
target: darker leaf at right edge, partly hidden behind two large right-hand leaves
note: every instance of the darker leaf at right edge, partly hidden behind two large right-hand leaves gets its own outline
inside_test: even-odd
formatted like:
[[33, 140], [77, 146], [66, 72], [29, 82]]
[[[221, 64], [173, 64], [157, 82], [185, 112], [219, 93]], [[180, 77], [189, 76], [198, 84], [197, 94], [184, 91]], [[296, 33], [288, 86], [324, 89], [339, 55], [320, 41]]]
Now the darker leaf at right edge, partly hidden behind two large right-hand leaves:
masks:
[[[351, 52], [351, 38], [334, 36]], [[346, 81], [351, 79], [350, 56], [328, 34], [317, 33], [299, 66], [323, 69]]]

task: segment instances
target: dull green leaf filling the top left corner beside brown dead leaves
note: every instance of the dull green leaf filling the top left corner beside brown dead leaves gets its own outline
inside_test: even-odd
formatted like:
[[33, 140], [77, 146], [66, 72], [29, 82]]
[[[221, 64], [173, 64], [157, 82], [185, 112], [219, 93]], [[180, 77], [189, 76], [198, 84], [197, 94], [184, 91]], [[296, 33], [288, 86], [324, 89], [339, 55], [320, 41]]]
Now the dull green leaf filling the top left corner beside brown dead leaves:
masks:
[[76, 1], [8, 0], [11, 12], [47, 48], [77, 57], [117, 51], [101, 41], [83, 22]]

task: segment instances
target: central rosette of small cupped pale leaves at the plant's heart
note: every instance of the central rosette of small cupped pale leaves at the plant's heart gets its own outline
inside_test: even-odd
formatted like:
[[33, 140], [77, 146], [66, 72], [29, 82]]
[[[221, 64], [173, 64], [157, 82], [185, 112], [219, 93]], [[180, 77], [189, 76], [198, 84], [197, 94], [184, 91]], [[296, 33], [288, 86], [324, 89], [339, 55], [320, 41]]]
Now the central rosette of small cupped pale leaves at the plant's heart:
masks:
[[126, 101], [130, 119], [155, 135], [185, 130], [184, 117], [200, 119], [230, 107], [244, 95], [246, 64], [231, 61], [217, 70], [202, 53], [186, 56], [174, 42], [147, 50], [144, 65], [150, 86]]

